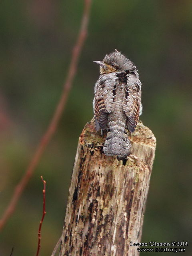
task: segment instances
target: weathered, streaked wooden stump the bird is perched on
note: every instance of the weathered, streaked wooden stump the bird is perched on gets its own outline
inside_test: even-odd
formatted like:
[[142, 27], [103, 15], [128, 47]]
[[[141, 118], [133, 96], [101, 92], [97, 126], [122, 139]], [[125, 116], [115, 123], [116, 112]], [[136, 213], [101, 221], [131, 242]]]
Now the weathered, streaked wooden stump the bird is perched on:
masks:
[[138, 256], [156, 138], [138, 122], [126, 160], [102, 152], [106, 134], [80, 135], [62, 236], [52, 256]]

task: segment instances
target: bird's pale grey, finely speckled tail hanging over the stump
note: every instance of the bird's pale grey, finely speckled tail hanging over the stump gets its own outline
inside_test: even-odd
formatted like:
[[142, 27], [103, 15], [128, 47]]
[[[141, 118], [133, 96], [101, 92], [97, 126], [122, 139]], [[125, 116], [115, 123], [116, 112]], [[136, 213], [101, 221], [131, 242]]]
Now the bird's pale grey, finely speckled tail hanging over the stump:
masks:
[[116, 129], [108, 132], [103, 146], [104, 154], [125, 158], [130, 154], [130, 148], [131, 144], [128, 135], [124, 131]]

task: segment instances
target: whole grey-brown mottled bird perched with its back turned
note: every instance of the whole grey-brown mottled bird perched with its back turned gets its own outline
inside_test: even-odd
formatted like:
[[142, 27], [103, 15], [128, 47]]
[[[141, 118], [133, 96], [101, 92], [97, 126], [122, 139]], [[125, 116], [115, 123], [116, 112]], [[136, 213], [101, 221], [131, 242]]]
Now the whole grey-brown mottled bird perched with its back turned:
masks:
[[130, 154], [126, 129], [134, 132], [142, 112], [141, 82], [134, 64], [121, 52], [107, 54], [94, 88], [95, 127], [107, 129], [104, 154], [124, 158]]

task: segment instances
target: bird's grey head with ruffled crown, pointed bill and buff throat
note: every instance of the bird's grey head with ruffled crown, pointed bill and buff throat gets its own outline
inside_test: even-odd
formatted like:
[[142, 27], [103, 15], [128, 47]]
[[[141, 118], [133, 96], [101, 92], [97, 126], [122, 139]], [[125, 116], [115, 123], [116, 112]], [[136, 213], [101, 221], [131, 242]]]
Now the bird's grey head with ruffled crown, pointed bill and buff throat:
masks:
[[110, 54], [106, 54], [102, 61], [94, 61], [100, 65], [100, 74], [108, 74], [112, 72], [122, 72], [135, 68], [132, 62], [127, 59], [121, 52], [115, 50]]

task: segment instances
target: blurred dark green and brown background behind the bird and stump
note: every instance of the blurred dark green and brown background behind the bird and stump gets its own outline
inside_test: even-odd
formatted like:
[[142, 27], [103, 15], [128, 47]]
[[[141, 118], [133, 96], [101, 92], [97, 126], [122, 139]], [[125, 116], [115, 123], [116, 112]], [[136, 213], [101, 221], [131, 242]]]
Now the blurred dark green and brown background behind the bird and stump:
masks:
[[[0, 1], [0, 216], [60, 98], [83, 6], [83, 0]], [[47, 213], [40, 256], [51, 255], [62, 232], [78, 137], [93, 117], [99, 76], [93, 60], [102, 60], [114, 48], [139, 70], [140, 119], [157, 139], [142, 242], [188, 242], [179, 247], [186, 251], [178, 254], [191, 255], [192, 1], [94, 0], [66, 110], [0, 234], [0, 256], [9, 256], [12, 246], [13, 256], [36, 254], [41, 175], [46, 180]]]

